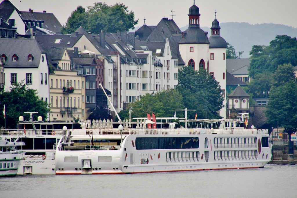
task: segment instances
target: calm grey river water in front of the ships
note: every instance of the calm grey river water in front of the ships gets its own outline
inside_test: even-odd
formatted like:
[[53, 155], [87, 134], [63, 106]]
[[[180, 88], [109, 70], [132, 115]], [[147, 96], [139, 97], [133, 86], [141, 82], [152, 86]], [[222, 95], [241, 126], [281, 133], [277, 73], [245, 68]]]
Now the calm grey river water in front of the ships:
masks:
[[0, 178], [0, 197], [297, 197], [297, 166]]

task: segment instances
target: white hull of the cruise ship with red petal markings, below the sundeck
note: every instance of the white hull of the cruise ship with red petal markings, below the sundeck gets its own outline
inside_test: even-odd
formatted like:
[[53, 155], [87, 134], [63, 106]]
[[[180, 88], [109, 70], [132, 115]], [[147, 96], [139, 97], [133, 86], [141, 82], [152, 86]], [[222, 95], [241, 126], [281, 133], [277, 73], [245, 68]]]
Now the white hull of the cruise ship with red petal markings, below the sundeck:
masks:
[[[259, 131], [251, 129], [245, 134], [193, 133], [195, 132], [183, 132], [184, 135], [128, 135], [119, 150], [61, 151], [57, 148], [56, 174], [124, 174], [259, 168], [264, 167], [271, 159], [268, 132], [260, 134]], [[144, 141], [173, 138], [168, 142], [171, 144], [179, 137], [189, 140], [199, 139], [199, 146], [182, 149], [137, 148], [139, 147], [137, 138], [149, 138]]]

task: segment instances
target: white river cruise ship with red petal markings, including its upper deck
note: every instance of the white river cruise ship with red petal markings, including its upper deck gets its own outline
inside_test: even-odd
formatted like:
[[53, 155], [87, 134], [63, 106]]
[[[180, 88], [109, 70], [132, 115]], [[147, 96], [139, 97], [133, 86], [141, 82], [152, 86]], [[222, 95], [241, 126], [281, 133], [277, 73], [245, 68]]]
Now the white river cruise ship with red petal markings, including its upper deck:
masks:
[[237, 119], [184, 120], [185, 125], [147, 119], [131, 128], [126, 122], [116, 129], [65, 130], [56, 147], [55, 171], [124, 174], [264, 167], [271, 159], [268, 129], [247, 129], [247, 119], [242, 114]]

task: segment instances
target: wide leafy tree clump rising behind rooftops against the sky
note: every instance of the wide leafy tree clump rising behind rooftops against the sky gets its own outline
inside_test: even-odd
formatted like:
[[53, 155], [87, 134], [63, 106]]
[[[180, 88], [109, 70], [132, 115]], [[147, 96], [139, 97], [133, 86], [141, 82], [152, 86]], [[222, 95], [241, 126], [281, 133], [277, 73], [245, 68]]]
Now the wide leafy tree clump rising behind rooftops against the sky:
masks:
[[78, 6], [68, 18], [63, 27], [63, 34], [70, 34], [80, 26], [87, 32], [99, 34], [103, 32], [122, 32], [134, 29], [138, 20], [134, 20], [134, 12], [129, 11], [124, 4], [107, 5], [102, 2], [88, 6], [88, 10]]

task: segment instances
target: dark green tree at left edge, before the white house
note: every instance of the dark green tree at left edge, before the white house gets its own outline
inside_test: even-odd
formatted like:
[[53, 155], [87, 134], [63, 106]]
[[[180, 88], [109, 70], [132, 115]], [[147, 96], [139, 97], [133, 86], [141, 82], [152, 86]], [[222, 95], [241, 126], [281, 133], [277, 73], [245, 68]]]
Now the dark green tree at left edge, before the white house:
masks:
[[[5, 104], [6, 128], [14, 129], [17, 126], [19, 116], [29, 120], [29, 114], [24, 112], [38, 112], [33, 114], [33, 120], [38, 116], [46, 119], [50, 111], [47, 102], [41, 100], [38, 91], [30, 89], [24, 82], [12, 85], [9, 92], [0, 93], [0, 108]], [[0, 116], [1, 126], [4, 126], [4, 117]]]

